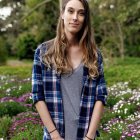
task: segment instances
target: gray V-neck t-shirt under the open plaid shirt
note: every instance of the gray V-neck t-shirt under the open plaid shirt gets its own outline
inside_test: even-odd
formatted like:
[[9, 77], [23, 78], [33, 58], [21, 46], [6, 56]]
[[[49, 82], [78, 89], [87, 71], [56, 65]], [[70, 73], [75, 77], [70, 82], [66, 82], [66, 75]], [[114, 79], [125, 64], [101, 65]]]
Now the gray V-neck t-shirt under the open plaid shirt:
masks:
[[64, 105], [65, 140], [76, 140], [82, 90], [83, 64], [72, 74], [61, 76], [61, 90]]

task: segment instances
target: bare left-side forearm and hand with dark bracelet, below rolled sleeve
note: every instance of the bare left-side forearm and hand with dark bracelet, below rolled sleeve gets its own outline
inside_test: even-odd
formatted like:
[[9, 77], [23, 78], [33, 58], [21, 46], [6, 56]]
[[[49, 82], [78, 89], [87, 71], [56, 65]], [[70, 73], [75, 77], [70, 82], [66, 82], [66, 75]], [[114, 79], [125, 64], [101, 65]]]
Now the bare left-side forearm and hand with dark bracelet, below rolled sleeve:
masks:
[[[40, 118], [44, 124], [44, 126], [47, 128], [48, 132], [51, 132], [53, 130], [56, 129], [52, 119], [51, 119], [51, 116], [50, 116], [50, 113], [48, 111], [48, 108], [45, 104], [44, 101], [38, 101], [36, 104], [36, 109], [40, 115]], [[63, 138], [61, 138], [60, 134], [58, 133], [57, 130], [53, 131], [51, 134], [51, 139], [52, 140], [63, 140]]]

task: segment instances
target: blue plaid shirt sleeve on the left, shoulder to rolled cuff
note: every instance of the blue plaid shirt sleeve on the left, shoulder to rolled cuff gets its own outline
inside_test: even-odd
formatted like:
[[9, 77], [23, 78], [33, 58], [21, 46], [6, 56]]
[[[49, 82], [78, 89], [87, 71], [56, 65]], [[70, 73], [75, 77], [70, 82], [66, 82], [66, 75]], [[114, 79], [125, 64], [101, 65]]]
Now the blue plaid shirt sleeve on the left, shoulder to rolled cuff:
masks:
[[45, 100], [39, 47], [35, 51], [32, 68], [32, 99], [34, 104], [38, 101]]

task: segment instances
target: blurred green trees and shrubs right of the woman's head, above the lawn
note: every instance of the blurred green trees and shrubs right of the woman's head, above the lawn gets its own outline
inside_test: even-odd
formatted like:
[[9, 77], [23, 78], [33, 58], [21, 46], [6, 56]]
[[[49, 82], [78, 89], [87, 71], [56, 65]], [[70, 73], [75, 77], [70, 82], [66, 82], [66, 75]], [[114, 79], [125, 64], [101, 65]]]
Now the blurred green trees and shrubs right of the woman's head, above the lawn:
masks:
[[105, 56], [139, 56], [139, 0], [92, 0], [90, 6], [96, 42]]

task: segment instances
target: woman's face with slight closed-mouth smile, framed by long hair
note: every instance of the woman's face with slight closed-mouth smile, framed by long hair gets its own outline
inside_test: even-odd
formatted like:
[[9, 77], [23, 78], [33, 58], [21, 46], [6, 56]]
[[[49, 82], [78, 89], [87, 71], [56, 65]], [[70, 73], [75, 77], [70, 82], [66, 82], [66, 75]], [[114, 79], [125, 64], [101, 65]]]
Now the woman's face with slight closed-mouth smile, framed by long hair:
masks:
[[65, 33], [78, 33], [84, 23], [85, 9], [79, 0], [70, 0], [62, 13]]

